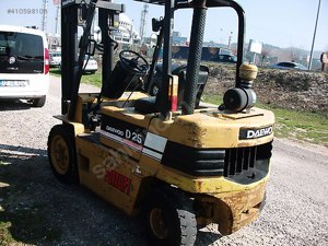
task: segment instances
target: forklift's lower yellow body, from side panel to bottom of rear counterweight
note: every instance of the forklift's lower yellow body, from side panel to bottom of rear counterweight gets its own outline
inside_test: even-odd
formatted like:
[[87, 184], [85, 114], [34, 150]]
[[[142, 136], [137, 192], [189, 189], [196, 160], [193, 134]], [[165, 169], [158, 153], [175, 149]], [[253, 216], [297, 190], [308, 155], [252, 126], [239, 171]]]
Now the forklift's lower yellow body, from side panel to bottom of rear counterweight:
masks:
[[[112, 148], [89, 141], [87, 136], [91, 134], [77, 138], [80, 181], [127, 214], [138, 212], [138, 197], [149, 188], [141, 186], [142, 180], [153, 178], [194, 194], [196, 198], [199, 195], [201, 202], [211, 203], [209, 213], [212, 215], [203, 219], [203, 223], [219, 223], [223, 234], [235, 232], [259, 215], [258, 206], [262, 201], [268, 176], [249, 185], [236, 184], [224, 177], [194, 177], [164, 167], [144, 155], [136, 162]], [[106, 183], [106, 174], [112, 169], [131, 179], [129, 194]]]

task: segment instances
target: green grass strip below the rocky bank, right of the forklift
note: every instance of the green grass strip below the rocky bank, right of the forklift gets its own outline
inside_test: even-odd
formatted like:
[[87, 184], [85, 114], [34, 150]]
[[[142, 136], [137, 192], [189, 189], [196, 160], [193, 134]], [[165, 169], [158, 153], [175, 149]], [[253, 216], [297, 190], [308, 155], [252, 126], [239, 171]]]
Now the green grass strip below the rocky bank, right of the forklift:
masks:
[[[207, 103], [220, 104], [222, 95], [206, 94]], [[257, 107], [276, 115], [274, 134], [328, 147], [328, 119], [317, 113], [296, 112], [257, 103]]]

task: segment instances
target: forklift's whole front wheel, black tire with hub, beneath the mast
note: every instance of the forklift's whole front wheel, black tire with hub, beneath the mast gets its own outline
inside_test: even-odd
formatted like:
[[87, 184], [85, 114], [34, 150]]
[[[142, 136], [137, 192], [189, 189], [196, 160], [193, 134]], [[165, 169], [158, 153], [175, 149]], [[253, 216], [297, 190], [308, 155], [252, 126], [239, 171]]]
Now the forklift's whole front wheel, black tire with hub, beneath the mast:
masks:
[[48, 137], [48, 159], [55, 176], [62, 183], [79, 183], [74, 128], [70, 125], [52, 127]]

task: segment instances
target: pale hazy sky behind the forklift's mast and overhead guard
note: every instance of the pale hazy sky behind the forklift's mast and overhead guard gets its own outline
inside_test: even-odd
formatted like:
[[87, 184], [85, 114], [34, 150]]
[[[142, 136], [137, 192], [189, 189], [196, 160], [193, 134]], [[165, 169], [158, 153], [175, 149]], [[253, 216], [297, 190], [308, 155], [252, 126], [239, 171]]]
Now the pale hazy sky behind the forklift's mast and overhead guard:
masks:
[[[126, 4], [126, 14], [139, 30], [143, 3], [132, 0], [116, 0]], [[246, 12], [246, 40], [259, 42], [279, 46], [311, 49], [314, 34], [318, 0], [237, 0]], [[22, 9], [35, 10], [34, 14], [23, 13]], [[0, 24], [37, 25], [40, 26], [43, 0], [0, 0]], [[14, 13], [13, 11], [14, 10]], [[21, 12], [21, 13], [20, 13]], [[40, 12], [40, 11], [38, 11]], [[150, 5], [148, 14], [147, 35], [151, 35], [151, 19], [163, 16], [163, 8]], [[48, 3], [47, 30], [55, 33], [56, 7], [52, 0]], [[189, 36], [191, 12], [177, 11], [175, 31]], [[317, 28], [315, 50], [328, 51], [328, 0], [321, 0], [320, 16]], [[206, 40], [227, 43], [236, 42], [237, 17], [230, 9], [211, 9], [208, 11]]]

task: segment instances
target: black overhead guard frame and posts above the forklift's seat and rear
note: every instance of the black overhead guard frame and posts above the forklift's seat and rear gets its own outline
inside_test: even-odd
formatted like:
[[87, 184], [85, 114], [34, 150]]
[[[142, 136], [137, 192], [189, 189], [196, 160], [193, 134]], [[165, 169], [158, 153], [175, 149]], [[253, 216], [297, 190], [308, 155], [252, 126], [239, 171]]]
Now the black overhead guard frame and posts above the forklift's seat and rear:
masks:
[[[185, 104], [183, 106], [183, 114], [192, 114], [196, 101], [196, 87], [198, 82], [197, 71], [200, 65], [201, 52], [199, 47], [202, 46], [202, 35], [204, 26], [206, 9], [229, 7], [236, 11], [238, 15], [238, 44], [237, 44], [237, 63], [236, 63], [236, 83], [235, 86], [241, 85], [239, 68], [244, 61], [244, 39], [245, 39], [245, 12], [243, 8], [233, 0], [136, 0], [145, 3], [161, 4], [165, 7], [164, 27], [163, 27], [163, 81], [160, 94], [160, 113], [163, 118], [169, 113], [168, 86], [169, 77], [172, 75], [172, 26], [174, 20], [174, 11], [178, 9], [194, 9], [194, 20], [188, 57], [187, 77], [189, 84], [185, 92]], [[202, 13], [201, 13], [202, 12]], [[204, 12], [204, 13], [203, 13]], [[203, 20], [202, 20], [203, 19]], [[203, 23], [202, 23], [203, 22]], [[195, 30], [196, 28], [196, 30]], [[194, 33], [194, 34], [192, 34]], [[154, 59], [155, 61], [155, 59]], [[151, 79], [151, 78], [150, 78]]]

